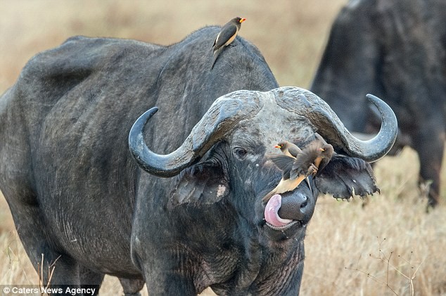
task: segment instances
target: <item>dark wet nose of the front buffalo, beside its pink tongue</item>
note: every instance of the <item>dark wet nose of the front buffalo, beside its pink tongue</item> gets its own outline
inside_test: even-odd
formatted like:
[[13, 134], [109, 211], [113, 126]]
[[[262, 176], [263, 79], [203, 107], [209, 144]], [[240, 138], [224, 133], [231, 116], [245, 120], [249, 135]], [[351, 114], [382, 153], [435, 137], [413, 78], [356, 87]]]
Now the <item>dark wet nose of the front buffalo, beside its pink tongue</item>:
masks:
[[282, 197], [282, 205], [279, 209], [279, 217], [283, 219], [298, 220], [306, 223], [310, 221], [314, 212], [314, 200], [312, 197], [293, 193]]

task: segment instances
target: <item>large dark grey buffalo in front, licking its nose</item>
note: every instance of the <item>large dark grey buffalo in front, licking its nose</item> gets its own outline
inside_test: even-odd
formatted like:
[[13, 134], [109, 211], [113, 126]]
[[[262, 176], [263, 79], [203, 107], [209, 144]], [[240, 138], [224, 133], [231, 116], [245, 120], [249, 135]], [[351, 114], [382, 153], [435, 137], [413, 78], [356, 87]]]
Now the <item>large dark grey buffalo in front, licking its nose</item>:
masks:
[[[297, 295], [317, 195], [378, 190], [365, 161], [393, 145], [388, 105], [370, 96], [383, 128], [359, 141], [310, 91], [276, 89], [240, 37], [209, 70], [218, 32], [167, 47], [68, 39], [0, 98], [0, 188], [34, 266], [56, 262], [52, 285], [110, 274], [127, 295], [144, 283], [150, 295]], [[268, 155], [315, 131], [338, 155], [272, 198], [265, 221], [262, 197], [281, 179]]]

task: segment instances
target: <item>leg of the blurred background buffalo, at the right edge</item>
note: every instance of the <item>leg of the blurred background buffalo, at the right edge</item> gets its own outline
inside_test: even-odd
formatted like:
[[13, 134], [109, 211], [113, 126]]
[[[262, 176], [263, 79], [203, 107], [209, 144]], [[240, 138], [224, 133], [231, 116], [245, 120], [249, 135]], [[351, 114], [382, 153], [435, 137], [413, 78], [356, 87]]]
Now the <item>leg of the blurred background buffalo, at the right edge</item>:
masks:
[[430, 132], [419, 136], [415, 141], [415, 150], [419, 155], [419, 184], [431, 183], [428, 191], [428, 209], [440, 201], [440, 171], [443, 158], [445, 133]]

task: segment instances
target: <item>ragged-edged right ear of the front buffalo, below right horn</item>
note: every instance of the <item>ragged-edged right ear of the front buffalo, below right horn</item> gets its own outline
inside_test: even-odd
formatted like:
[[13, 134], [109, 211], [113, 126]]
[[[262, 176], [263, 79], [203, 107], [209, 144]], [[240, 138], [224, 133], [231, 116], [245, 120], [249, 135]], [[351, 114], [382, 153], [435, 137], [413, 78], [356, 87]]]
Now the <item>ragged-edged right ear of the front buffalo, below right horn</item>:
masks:
[[366, 196], [378, 192], [371, 166], [356, 157], [333, 155], [330, 162], [314, 179], [320, 193], [333, 198]]

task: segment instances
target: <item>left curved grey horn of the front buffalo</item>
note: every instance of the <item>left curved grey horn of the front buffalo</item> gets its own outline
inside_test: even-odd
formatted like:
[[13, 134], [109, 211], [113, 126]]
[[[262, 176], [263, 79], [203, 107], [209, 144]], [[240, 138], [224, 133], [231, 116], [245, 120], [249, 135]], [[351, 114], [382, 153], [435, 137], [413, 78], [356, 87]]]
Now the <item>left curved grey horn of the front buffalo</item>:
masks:
[[136, 162], [146, 172], [155, 176], [175, 176], [222, 139], [241, 120], [255, 116], [260, 110], [259, 95], [255, 91], [238, 91], [218, 98], [193, 127], [184, 142], [167, 155], [151, 151], [144, 141], [144, 127], [158, 111], [154, 107], [146, 111], [133, 124], [129, 133], [129, 148]]

